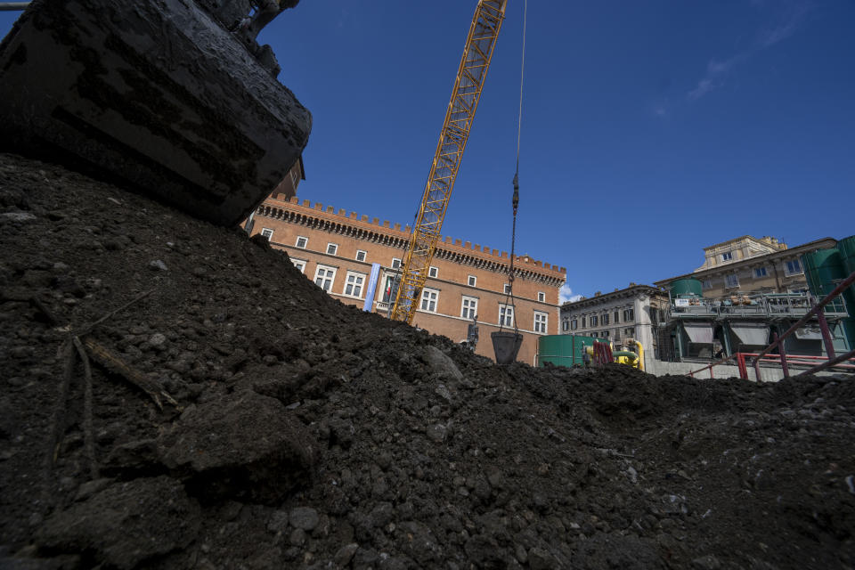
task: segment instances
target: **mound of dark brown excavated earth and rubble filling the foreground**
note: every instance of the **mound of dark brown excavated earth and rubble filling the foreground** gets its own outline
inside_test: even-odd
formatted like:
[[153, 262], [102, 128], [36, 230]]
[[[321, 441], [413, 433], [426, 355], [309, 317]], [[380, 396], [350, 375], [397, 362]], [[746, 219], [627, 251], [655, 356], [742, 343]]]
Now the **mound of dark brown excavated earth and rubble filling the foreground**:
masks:
[[[9, 155], [0, 247], [2, 568], [855, 566], [851, 378], [500, 368]], [[63, 405], [74, 334], [177, 405], [96, 362]]]

